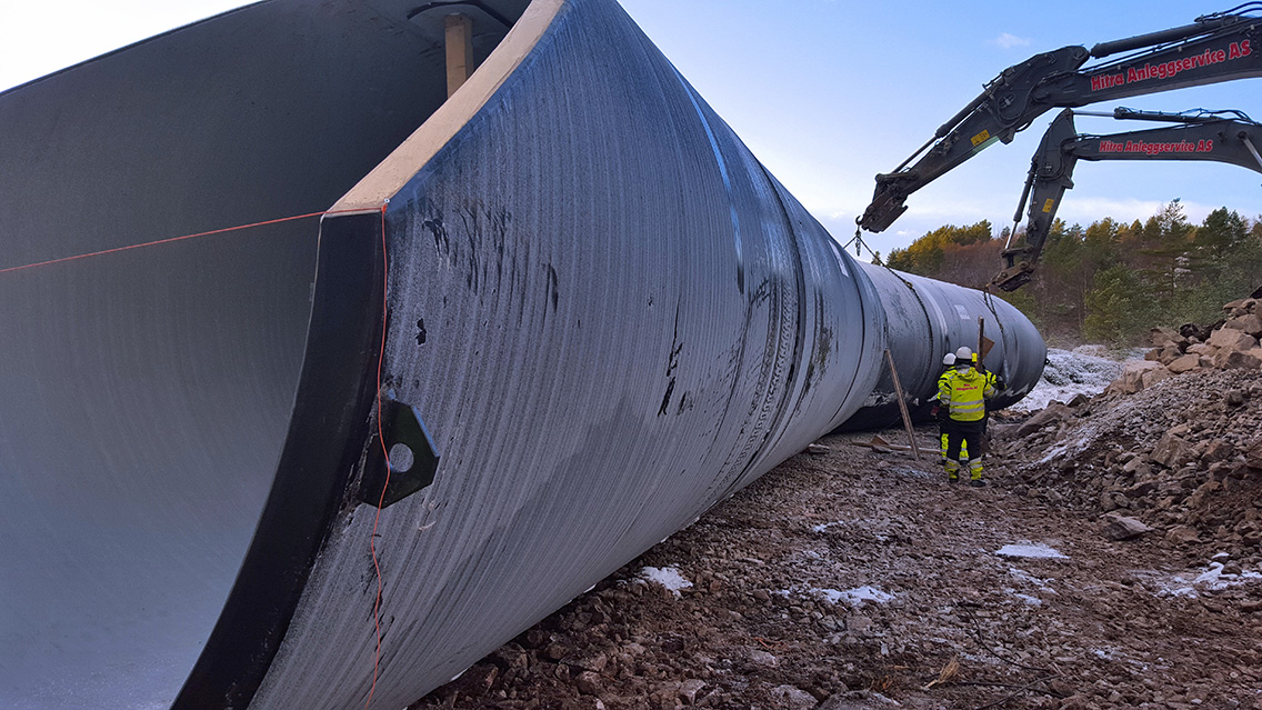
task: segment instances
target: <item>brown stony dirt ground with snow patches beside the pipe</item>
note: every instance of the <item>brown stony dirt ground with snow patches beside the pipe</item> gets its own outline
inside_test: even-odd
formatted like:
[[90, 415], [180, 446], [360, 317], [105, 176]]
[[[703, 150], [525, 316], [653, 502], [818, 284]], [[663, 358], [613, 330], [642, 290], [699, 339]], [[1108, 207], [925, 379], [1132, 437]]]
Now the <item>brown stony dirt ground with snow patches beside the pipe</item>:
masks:
[[823, 438], [413, 707], [1262, 710], [1258, 547], [948, 485], [935, 433]]

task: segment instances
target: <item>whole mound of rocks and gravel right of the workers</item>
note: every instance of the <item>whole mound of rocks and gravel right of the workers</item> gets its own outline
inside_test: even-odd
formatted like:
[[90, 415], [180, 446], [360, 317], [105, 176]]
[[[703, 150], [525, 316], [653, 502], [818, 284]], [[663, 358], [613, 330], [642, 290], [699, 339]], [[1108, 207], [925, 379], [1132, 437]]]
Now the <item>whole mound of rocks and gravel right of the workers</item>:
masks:
[[1022, 493], [1262, 560], [1262, 308], [1247, 298], [1224, 312], [1212, 327], [1153, 330], [1157, 347], [1100, 397], [996, 427]]

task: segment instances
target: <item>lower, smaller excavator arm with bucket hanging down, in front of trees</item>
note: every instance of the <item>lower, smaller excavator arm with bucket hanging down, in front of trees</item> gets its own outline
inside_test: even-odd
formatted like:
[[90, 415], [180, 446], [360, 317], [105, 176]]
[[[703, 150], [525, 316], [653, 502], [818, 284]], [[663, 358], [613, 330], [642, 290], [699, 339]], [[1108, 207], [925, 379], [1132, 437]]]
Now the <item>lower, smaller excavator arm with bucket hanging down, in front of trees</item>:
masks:
[[1079, 134], [1073, 109], [1065, 109], [1047, 128], [1039, 150], [1030, 162], [1030, 176], [1015, 221], [1021, 220], [1026, 202], [1030, 216], [1025, 244], [1003, 250], [1007, 267], [991, 284], [1016, 291], [1030, 282], [1034, 264], [1042, 251], [1051, 222], [1066, 190], [1074, 187], [1078, 160], [1213, 160], [1230, 163], [1262, 173], [1262, 125], [1241, 111], [1195, 110], [1182, 114], [1116, 109], [1112, 114], [1079, 111], [1080, 115], [1111, 115], [1119, 120], [1145, 120], [1176, 124], [1113, 135]]

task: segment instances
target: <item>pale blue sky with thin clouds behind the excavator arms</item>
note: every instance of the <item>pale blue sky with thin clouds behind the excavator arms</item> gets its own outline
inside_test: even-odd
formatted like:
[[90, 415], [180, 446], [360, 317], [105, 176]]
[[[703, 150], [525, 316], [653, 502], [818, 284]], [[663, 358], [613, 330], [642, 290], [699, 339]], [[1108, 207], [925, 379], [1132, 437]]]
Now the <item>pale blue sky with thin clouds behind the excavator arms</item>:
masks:
[[[1061, 0], [959, 5], [846, 0], [621, 0], [702, 96], [839, 241], [892, 171], [1005, 67], [1064, 47], [1189, 24], [1230, 1]], [[0, 88], [245, 3], [62, 0], [0, 11]], [[1107, 8], [1107, 9], [1106, 9]], [[1262, 120], [1262, 80], [1132, 97], [1161, 111], [1239, 109]], [[1108, 110], [1102, 104], [1090, 110]], [[1054, 112], [912, 195], [910, 210], [867, 240], [882, 253], [943, 224], [1011, 224], [1030, 155]], [[1079, 130], [1143, 128], [1078, 119]], [[1227, 206], [1262, 214], [1262, 176], [1222, 164], [1080, 163], [1060, 215], [1089, 224], [1143, 219], [1179, 197], [1199, 221]]]

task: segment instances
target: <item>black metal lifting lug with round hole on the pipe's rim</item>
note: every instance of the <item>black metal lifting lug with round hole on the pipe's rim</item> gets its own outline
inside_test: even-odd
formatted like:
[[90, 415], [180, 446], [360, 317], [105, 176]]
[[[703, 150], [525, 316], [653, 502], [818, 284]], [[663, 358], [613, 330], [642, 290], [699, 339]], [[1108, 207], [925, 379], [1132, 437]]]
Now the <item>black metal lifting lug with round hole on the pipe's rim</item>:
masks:
[[369, 505], [387, 508], [434, 483], [439, 452], [420, 412], [392, 398], [381, 402], [381, 432], [384, 446], [376, 433], [369, 440], [356, 498]]

